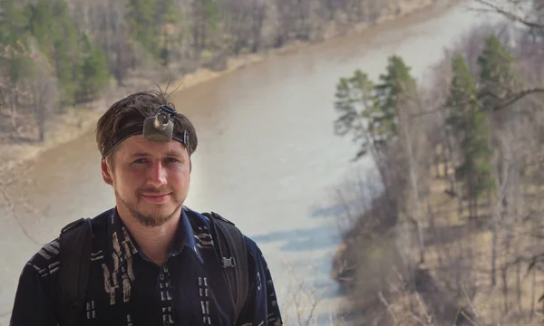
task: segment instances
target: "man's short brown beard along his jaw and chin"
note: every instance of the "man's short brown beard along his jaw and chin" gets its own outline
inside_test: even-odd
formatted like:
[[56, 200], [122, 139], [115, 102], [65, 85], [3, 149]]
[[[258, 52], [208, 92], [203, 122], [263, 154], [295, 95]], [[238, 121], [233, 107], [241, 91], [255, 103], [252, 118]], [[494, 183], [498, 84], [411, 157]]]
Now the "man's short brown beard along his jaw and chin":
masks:
[[164, 225], [172, 217], [176, 216], [176, 214], [180, 214], [180, 207], [183, 205], [183, 198], [175, 197], [174, 193], [171, 193], [171, 199], [174, 202], [175, 206], [172, 212], [165, 214], [165, 213], [151, 213], [151, 214], [145, 214], [141, 212], [141, 210], [138, 208], [138, 204], [141, 202], [141, 193], [164, 193], [162, 189], [141, 189], [136, 191], [136, 197], [138, 198], [136, 203], [131, 202], [130, 200], [127, 200], [126, 198], [123, 198], [120, 196], [117, 189], [115, 189], [115, 196], [119, 198], [122, 206], [125, 206], [125, 208], [131, 213], [131, 216], [134, 217], [136, 222], [140, 223], [141, 225], [147, 226], [147, 227], [157, 227]]

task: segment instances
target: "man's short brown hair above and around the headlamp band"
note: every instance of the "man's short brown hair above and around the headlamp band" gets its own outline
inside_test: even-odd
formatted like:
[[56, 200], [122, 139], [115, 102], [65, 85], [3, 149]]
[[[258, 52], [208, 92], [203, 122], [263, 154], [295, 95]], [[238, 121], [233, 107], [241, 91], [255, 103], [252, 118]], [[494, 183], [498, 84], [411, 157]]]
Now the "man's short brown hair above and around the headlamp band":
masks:
[[[111, 142], [119, 131], [153, 116], [161, 105], [175, 109], [174, 104], [169, 101], [168, 94], [163, 91], [139, 91], [113, 103], [96, 125], [96, 143], [102, 156], [106, 147], [112, 146]], [[189, 132], [190, 156], [197, 149], [196, 130], [183, 114], [178, 113], [172, 120], [174, 136], [183, 139], [183, 130]]]

